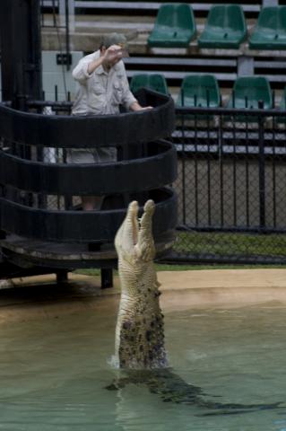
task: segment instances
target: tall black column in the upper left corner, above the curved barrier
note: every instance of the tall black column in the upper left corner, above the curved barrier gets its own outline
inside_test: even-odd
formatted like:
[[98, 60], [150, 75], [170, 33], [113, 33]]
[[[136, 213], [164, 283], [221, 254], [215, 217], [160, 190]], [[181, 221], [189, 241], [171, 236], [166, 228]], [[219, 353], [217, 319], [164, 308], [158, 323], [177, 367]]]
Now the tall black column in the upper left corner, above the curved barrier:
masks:
[[24, 109], [25, 100], [41, 99], [40, 13], [38, 0], [1, 0], [3, 101]]

